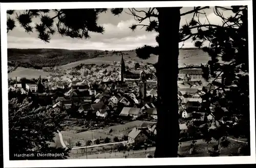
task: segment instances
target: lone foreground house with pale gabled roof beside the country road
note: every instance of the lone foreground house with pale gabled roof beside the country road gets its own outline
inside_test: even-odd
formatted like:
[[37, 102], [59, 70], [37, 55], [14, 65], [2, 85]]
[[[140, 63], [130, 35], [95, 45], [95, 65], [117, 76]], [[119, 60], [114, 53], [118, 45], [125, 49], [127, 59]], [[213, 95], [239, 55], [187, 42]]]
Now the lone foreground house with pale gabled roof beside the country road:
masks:
[[144, 143], [146, 139], [147, 136], [136, 127], [128, 134], [128, 144]]

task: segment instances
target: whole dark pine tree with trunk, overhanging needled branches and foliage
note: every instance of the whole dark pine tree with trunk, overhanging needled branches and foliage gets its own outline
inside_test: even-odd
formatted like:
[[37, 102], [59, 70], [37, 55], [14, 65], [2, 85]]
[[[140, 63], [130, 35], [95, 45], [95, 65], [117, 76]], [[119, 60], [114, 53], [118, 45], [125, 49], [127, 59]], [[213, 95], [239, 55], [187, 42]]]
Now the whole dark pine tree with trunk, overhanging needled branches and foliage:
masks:
[[[138, 24], [131, 25], [130, 28], [133, 31], [137, 27], [142, 26], [148, 32], [154, 31], [158, 33], [156, 36], [158, 46], [145, 45], [136, 49], [136, 54], [141, 59], [150, 58], [151, 54], [158, 55], [158, 63], [155, 65], [158, 80], [158, 123], [155, 157], [177, 157], [177, 144], [180, 133], [179, 116], [177, 113], [178, 103], [173, 103], [172, 109], [170, 109], [169, 102], [178, 100], [178, 88], [173, 87], [170, 89], [169, 86], [177, 86], [179, 42], [193, 38], [195, 46], [201, 48], [205, 41], [209, 41], [210, 46], [204, 47], [204, 50], [209, 53], [212, 61], [208, 63], [210, 71], [203, 67], [204, 72], [214, 75], [214, 72], [222, 69], [225, 75], [222, 75], [223, 82], [220, 83], [220, 88], [223, 89], [226, 85], [232, 86], [231, 84], [233, 83], [236, 83], [237, 86], [240, 85], [239, 87], [230, 88], [230, 97], [231, 94], [233, 94], [233, 99], [236, 96], [241, 96], [241, 98], [244, 98], [243, 103], [246, 104], [247, 102], [248, 104], [248, 96], [246, 97], [246, 94], [241, 94], [247, 92], [247, 87], [242, 89], [241, 86], [247, 86], [246, 81], [248, 80], [243, 79], [248, 77], [242, 76], [240, 79], [237, 79], [236, 75], [231, 72], [234, 68], [237, 69], [237, 66], [241, 66], [240, 70], [244, 71], [248, 68], [248, 63], [245, 62], [245, 60], [248, 62], [248, 42], [247, 38], [245, 38], [248, 34], [246, 29], [247, 7], [231, 7], [230, 9], [215, 7], [215, 13], [222, 18], [223, 25], [202, 24], [200, 22], [199, 15], [204, 15], [203, 10], [209, 7], [195, 7], [193, 10], [185, 13], [180, 13], [181, 8], [147, 8], [146, 10], [132, 8], [129, 9], [130, 12], [127, 12], [127, 14], [134, 16], [134, 19], [139, 22]], [[221, 15], [219, 9], [232, 10], [235, 17], [226, 19]], [[56, 13], [56, 16], [52, 18], [47, 15], [50, 10], [26, 10], [23, 14], [17, 15], [16, 19], [26, 32], [32, 32], [35, 29], [38, 33], [38, 38], [45, 42], [49, 42], [51, 36], [55, 33], [54, 21], [56, 22], [57, 32], [62, 36], [71, 38], [87, 39], [90, 38], [89, 32], [104, 32], [103, 27], [97, 24], [97, 19], [99, 14], [105, 12], [106, 9], [60, 9], [52, 11]], [[111, 12], [114, 15], [119, 15], [123, 12], [123, 9], [111, 9]], [[13, 13], [14, 11], [8, 11], [8, 14]], [[182, 25], [180, 29], [181, 16], [187, 14], [194, 14], [193, 18], [185, 25]], [[77, 15], [80, 16], [78, 20], [74, 19]], [[33, 17], [40, 18], [40, 22], [35, 27], [32, 27], [30, 24]], [[149, 19], [150, 23], [148, 25], [142, 24], [142, 21], [146, 19]], [[172, 23], [172, 29], [169, 27], [170, 22]], [[228, 22], [233, 24], [228, 24]], [[7, 32], [13, 30], [14, 27], [15, 20], [8, 18]], [[239, 51], [237, 52], [237, 50]], [[171, 54], [166, 54], [170, 52]], [[170, 57], [169, 55], [172, 56]], [[218, 57], [222, 57], [223, 61], [231, 60], [231, 63], [225, 66], [220, 63], [218, 64]], [[235, 61], [232, 61], [233, 59]], [[166, 78], [166, 74], [172, 80]], [[236, 102], [236, 100], [232, 101], [233, 103]], [[241, 104], [241, 102], [238, 104]], [[239, 113], [239, 111], [242, 111], [240, 110], [241, 107], [248, 108], [246, 105], [238, 106], [238, 104], [232, 107], [234, 112]]]

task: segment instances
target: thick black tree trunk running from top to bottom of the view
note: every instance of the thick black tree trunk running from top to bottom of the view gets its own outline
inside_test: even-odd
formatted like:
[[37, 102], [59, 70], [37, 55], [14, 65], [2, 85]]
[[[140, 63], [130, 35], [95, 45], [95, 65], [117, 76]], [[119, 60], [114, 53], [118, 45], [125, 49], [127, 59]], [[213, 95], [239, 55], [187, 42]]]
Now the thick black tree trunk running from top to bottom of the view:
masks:
[[[178, 157], [178, 56], [180, 8], [157, 8], [159, 12], [159, 57], [157, 140], [155, 157]], [[172, 25], [172, 26], [170, 26]]]

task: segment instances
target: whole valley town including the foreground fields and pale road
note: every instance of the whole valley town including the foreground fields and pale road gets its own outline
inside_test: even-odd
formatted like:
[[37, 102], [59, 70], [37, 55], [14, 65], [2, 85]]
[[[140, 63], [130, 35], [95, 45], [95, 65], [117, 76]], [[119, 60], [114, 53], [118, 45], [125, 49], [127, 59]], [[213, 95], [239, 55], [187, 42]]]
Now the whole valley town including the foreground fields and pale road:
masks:
[[[126, 158], [125, 151], [154, 147], [157, 78], [153, 65], [126, 61], [122, 55], [121, 61], [112, 65], [81, 64], [68, 70], [55, 67], [44, 71], [52, 75], [31, 80], [9, 79], [9, 99], [11, 92], [40, 95], [42, 105], [66, 114], [66, 130], [56, 136], [61, 147], [72, 149], [72, 158], [100, 158], [99, 154], [106, 151], [123, 151], [120, 157]], [[203, 96], [215, 87], [203, 78], [200, 66], [181, 69], [177, 82], [181, 145], [195, 139], [189, 127], [203, 127], [214, 121], [215, 106], [211, 105], [210, 113], [206, 113], [202, 104], [206, 101]], [[221, 91], [218, 93], [223, 96]], [[230, 124], [236, 123], [229, 120]], [[201, 136], [199, 133], [197, 139]]]

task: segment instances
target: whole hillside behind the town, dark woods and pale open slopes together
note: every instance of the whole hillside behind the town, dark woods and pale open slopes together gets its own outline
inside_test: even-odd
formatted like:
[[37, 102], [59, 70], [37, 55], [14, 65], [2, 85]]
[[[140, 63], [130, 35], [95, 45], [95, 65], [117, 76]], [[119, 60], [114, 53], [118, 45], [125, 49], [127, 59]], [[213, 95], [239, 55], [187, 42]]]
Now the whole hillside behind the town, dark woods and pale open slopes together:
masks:
[[[136, 56], [135, 50], [122, 52], [126, 60], [148, 63], [157, 62], [157, 57], [154, 55], [150, 59], [141, 60]], [[188, 63], [201, 61], [203, 63], [209, 60], [205, 57], [206, 55], [207, 54], [200, 49], [187, 48], [180, 49], [179, 58]], [[120, 61], [120, 56], [116, 51], [8, 48], [8, 66], [16, 68], [41, 69], [42, 67], [55, 66], [71, 68], [79, 64], [111, 64], [113, 61]]]

